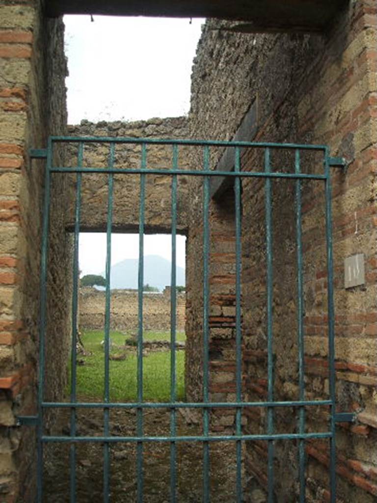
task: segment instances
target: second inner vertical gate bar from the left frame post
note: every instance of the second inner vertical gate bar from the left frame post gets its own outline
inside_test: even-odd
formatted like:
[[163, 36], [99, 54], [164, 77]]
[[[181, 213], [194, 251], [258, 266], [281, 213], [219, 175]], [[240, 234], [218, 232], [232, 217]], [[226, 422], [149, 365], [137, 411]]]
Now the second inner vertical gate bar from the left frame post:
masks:
[[[114, 165], [115, 143], [110, 146], [109, 166]], [[105, 294], [105, 392], [104, 402], [110, 402], [110, 303], [111, 303], [111, 230], [113, 224], [113, 192], [114, 175], [108, 175], [108, 214], [106, 227], [106, 294]], [[104, 408], [104, 434], [110, 435], [110, 410]], [[104, 503], [108, 503], [110, 497], [110, 446], [109, 442], [104, 443]]]

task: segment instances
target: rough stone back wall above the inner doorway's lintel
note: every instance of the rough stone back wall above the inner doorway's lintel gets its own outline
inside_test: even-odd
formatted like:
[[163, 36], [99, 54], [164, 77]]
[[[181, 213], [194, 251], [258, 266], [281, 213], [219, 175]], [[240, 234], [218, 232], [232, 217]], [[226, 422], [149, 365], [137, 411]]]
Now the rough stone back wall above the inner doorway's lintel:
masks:
[[[129, 138], [180, 139], [188, 136], [187, 119], [171, 117], [136, 122], [82, 121], [69, 126], [71, 136], [113, 136]], [[186, 169], [187, 147], [179, 147], [177, 167]], [[69, 144], [67, 165], [77, 165], [77, 144]], [[109, 144], [86, 143], [83, 166], [104, 167], [109, 162]], [[146, 165], [148, 168], [168, 170], [172, 167], [171, 145], [148, 145]], [[141, 167], [141, 147], [136, 144], [117, 144], [114, 167], [132, 169]], [[171, 229], [171, 177], [148, 175], [145, 188], [145, 226], [147, 232], [170, 232]], [[81, 229], [106, 230], [108, 176], [95, 174], [82, 177]], [[139, 227], [140, 176], [114, 176], [113, 230], [135, 232]], [[71, 210], [68, 226], [74, 222], [75, 177], [71, 178]], [[187, 178], [178, 177], [177, 185], [177, 230], [187, 228]]]

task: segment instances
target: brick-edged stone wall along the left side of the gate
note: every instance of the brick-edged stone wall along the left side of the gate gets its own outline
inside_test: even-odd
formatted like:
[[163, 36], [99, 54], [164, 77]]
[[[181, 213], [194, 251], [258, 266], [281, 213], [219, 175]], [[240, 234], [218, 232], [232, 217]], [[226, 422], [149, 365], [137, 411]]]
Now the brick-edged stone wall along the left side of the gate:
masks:
[[[0, 2], [0, 485], [7, 502], [34, 500], [35, 428], [16, 426], [16, 416], [36, 413], [44, 161], [31, 162], [29, 149], [64, 131], [65, 74], [61, 20], [44, 21], [37, 1]], [[49, 399], [60, 397], [65, 385], [69, 294], [63, 277], [69, 241], [59, 218], [63, 181], [54, 180], [52, 191], [61, 202], [51, 207]]]

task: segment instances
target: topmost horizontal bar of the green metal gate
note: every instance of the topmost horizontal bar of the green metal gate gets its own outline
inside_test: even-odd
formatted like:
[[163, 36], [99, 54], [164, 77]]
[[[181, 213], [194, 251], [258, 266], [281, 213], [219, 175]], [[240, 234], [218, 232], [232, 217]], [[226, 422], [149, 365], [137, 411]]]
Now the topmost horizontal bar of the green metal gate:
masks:
[[84, 142], [84, 143], [147, 143], [163, 145], [213, 145], [220, 147], [270, 147], [299, 148], [303, 150], [326, 150], [326, 145], [304, 145], [301, 143], [266, 143], [253, 141], [222, 141], [222, 140], [178, 140], [162, 138], [127, 138], [107, 136], [51, 136], [52, 142]]

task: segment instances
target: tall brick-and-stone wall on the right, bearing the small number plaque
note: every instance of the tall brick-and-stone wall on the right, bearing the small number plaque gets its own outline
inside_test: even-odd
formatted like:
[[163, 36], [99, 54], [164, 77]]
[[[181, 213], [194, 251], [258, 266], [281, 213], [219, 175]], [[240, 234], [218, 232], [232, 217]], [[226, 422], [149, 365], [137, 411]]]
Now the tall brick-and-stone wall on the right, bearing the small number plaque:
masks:
[[[336, 394], [338, 409], [356, 411], [358, 420], [354, 426], [337, 428], [338, 496], [340, 500], [365, 503], [373, 501], [377, 494], [377, 459], [372, 447], [377, 426], [376, 16], [375, 4], [369, 0], [350, 2], [348, 9], [339, 13], [335, 28], [323, 37], [236, 34], [214, 29], [227, 27], [227, 23], [209, 21], [194, 66], [191, 110], [192, 137], [231, 139], [256, 100], [255, 140], [328, 144], [331, 155], [344, 155], [349, 163], [346, 173], [334, 169], [332, 177]], [[318, 157], [302, 154], [302, 162], [308, 172], [323, 170]], [[216, 155], [212, 166], [215, 164]], [[244, 155], [242, 166], [246, 170], [262, 170], [262, 153]], [[275, 170], [294, 171], [294, 158], [274, 151], [272, 166]], [[201, 189], [202, 186], [193, 185], [192, 194]], [[244, 393], [246, 399], [258, 401], [267, 396], [264, 184], [243, 182], [242, 189]], [[319, 184], [303, 183], [302, 191], [306, 398], [320, 399], [327, 398], [329, 392], [324, 197]], [[274, 392], [275, 399], [294, 400], [299, 396], [295, 185], [273, 183], [272, 199]], [[187, 253], [198, 257], [202, 238], [196, 229], [202, 221], [201, 205], [193, 204], [192, 208]], [[365, 257], [365, 285], [345, 290], [343, 261], [355, 253]], [[188, 341], [191, 332], [200, 333], [202, 328], [201, 321], [195, 321], [201, 302], [200, 287], [195, 286], [195, 281], [201, 275], [198, 261], [194, 268], [189, 260]], [[215, 306], [211, 297], [211, 309], [215, 310]], [[218, 313], [224, 316], [219, 310]], [[212, 366], [224, 362], [221, 354], [210, 357]], [[186, 365], [200, 358], [198, 345], [187, 343]], [[198, 369], [193, 384], [201, 386], [201, 377]], [[214, 379], [215, 374], [211, 374], [212, 382]], [[232, 389], [231, 383], [228, 389]], [[245, 432], [266, 431], [264, 410], [249, 409], [245, 416]], [[297, 415], [287, 409], [276, 412], [274, 423], [276, 432], [296, 431]], [[308, 409], [307, 423], [309, 431], [326, 431], [327, 410]], [[297, 446], [279, 442], [275, 448], [276, 500], [295, 500]], [[246, 468], [253, 494], [253, 487], [266, 484], [266, 444], [253, 442], [247, 450]], [[307, 498], [327, 500], [328, 443], [307, 442], [306, 453]], [[260, 497], [260, 491], [256, 494]]]

